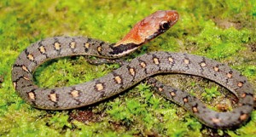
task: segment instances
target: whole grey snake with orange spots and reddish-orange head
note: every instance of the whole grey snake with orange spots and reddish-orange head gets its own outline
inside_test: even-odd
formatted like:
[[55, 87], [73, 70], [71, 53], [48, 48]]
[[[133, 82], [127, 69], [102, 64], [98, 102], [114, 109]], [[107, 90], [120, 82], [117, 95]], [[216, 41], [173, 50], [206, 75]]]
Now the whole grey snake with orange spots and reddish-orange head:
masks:
[[[117, 43], [90, 37], [49, 37], [32, 43], [20, 53], [12, 67], [12, 82], [17, 94], [38, 109], [68, 110], [89, 106], [148, 79], [154, 90], [190, 111], [211, 128], [240, 127], [253, 111], [253, 87], [239, 71], [218, 61], [186, 53], [155, 51], [138, 56], [103, 77], [67, 87], [39, 88], [33, 81], [38, 66], [55, 58], [84, 55], [118, 59], [131, 54], [177, 23], [176, 10], [159, 10], [137, 22]], [[178, 73], [204, 77], [235, 94], [238, 103], [231, 111], [213, 111], [195, 96], [160, 83], [153, 76]]]

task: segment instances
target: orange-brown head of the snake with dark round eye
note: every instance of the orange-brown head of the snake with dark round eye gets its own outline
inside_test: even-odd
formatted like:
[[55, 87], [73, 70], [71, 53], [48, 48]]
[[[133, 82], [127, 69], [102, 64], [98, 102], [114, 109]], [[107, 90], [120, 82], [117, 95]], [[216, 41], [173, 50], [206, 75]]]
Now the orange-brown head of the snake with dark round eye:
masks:
[[113, 47], [119, 45], [135, 44], [137, 47], [143, 43], [154, 39], [163, 32], [169, 30], [178, 20], [178, 14], [175, 10], [159, 10], [150, 14], [148, 17], [137, 22], [127, 35], [116, 43]]

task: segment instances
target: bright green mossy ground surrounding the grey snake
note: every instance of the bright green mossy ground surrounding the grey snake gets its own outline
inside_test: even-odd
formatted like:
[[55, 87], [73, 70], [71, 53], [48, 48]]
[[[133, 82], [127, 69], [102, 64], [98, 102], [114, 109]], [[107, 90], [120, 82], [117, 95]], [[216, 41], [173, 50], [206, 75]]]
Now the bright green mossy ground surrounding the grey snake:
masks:
[[[44, 111], [28, 106], [11, 82], [20, 52], [45, 37], [88, 36], [115, 43], [138, 20], [159, 9], [175, 9], [180, 20], [170, 31], [132, 54], [163, 50], [199, 54], [241, 71], [256, 85], [256, 3], [231, 0], [1, 0], [0, 135], [2, 136], [253, 136], [256, 111], [241, 128], [207, 128], [147, 84], [94, 106]], [[116, 65], [91, 66], [83, 57], [52, 60], [38, 68], [36, 83], [61, 87], [106, 75]], [[169, 79], [171, 76], [160, 77]], [[184, 80], [189, 78], [189, 80]], [[200, 77], [171, 78], [172, 85], [197, 94], [209, 107], [230, 110], [234, 96]], [[166, 80], [167, 81], [167, 80]], [[184, 82], [185, 81], [185, 82]], [[183, 82], [182, 84], [180, 82]], [[224, 95], [220, 95], [218, 91]], [[207, 94], [203, 94], [206, 92]], [[230, 100], [224, 100], [225, 96]], [[219, 105], [221, 104], [221, 105]]]

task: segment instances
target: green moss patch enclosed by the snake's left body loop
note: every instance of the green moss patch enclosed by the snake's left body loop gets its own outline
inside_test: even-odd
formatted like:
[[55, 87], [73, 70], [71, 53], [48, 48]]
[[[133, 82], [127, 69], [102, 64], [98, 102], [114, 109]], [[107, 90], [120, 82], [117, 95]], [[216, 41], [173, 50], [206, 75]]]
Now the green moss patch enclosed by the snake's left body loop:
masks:
[[[91, 66], [83, 57], [73, 59], [62, 58], [45, 63], [35, 73], [36, 83], [40, 87], [63, 87], [90, 81], [102, 77], [113, 70], [114, 66]], [[86, 68], [86, 69], [85, 69]], [[99, 71], [99, 73], [95, 73]], [[56, 75], [51, 75], [52, 73]], [[49, 76], [45, 78], [43, 76]]]

